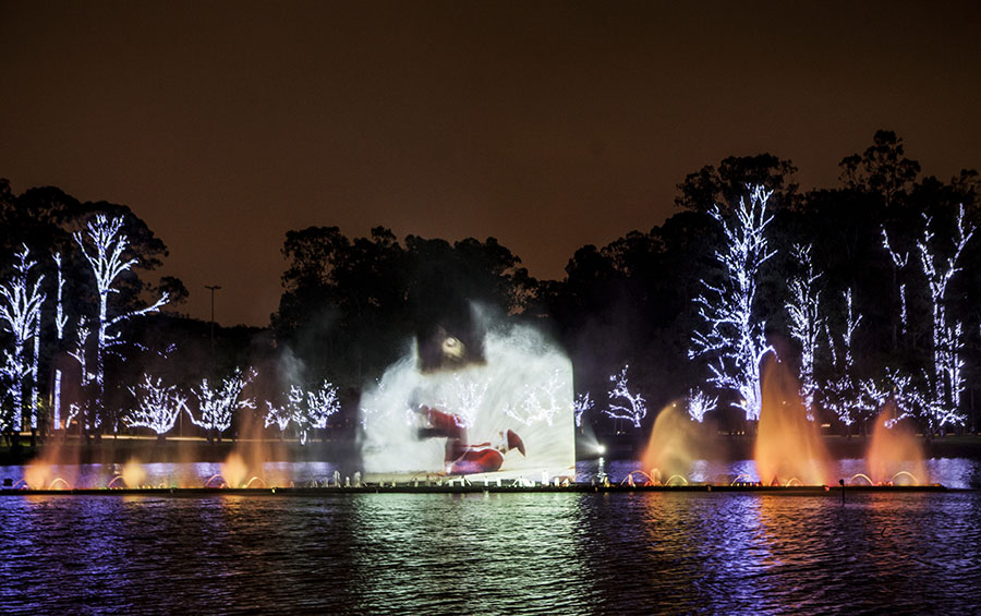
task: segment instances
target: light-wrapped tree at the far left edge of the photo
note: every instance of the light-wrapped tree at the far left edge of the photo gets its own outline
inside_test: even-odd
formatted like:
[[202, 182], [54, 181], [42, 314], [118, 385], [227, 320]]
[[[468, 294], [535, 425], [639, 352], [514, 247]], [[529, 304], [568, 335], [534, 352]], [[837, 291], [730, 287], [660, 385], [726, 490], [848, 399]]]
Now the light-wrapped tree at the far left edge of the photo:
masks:
[[[13, 350], [4, 351], [0, 374], [10, 383], [9, 396], [13, 412], [3, 421], [4, 430], [20, 431], [23, 423], [25, 382], [33, 382], [31, 395], [31, 427], [37, 427], [37, 364], [40, 346], [40, 310], [45, 293], [40, 287], [44, 275], [31, 280], [31, 261], [27, 246], [16, 255], [11, 280], [0, 285], [0, 322], [3, 329], [13, 335]], [[27, 342], [34, 341], [33, 359], [27, 354]]]

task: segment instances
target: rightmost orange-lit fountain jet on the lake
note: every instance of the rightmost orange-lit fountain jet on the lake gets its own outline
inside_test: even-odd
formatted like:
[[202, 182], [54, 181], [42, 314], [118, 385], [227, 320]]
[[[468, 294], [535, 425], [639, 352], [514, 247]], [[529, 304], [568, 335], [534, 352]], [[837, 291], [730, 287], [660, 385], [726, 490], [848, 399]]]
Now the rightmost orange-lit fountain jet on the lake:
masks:
[[927, 483], [923, 447], [907, 423], [886, 425], [894, 414], [893, 403], [888, 402], [875, 420], [865, 454], [869, 475], [875, 483], [893, 483], [899, 478], [904, 478], [904, 483]]

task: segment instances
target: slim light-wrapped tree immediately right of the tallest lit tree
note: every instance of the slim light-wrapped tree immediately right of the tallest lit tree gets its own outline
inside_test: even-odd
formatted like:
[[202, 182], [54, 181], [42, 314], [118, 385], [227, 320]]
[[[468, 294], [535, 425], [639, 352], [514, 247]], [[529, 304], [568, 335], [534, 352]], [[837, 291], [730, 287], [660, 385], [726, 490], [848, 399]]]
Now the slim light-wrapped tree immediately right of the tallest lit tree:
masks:
[[790, 278], [790, 301], [787, 302], [787, 314], [790, 317], [790, 337], [800, 342], [800, 398], [804, 403], [808, 419], [814, 421], [814, 394], [818, 383], [814, 379], [814, 354], [818, 351], [818, 337], [824, 319], [819, 312], [821, 291], [818, 279], [821, 274], [814, 271], [811, 261], [811, 246], [795, 244], [795, 261], [801, 273]]

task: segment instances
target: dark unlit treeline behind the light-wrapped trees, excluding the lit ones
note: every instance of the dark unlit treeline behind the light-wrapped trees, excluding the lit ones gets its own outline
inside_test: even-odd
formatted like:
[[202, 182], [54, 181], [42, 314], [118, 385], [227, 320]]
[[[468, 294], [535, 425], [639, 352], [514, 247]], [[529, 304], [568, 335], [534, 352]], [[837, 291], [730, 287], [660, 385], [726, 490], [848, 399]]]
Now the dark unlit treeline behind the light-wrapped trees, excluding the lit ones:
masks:
[[[132, 345], [118, 349], [117, 359], [107, 365], [107, 398], [110, 389], [122, 391], [147, 371], [166, 370], [171, 382], [191, 384], [202, 373], [265, 364], [277, 366], [282, 379], [287, 378], [282, 366], [289, 363], [289, 378], [306, 384], [327, 378], [338, 385], [346, 401], [338, 421], [353, 423], [361, 388], [374, 383], [413, 340], [425, 345], [446, 331], [479, 348], [481, 328], [498, 318], [534, 322], [567, 350], [577, 392], [590, 391], [595, 401], [585, 421], [598, 432], [613, 430], [602, 410], [609, 376], [626, 364], [631, 387], [643, 394], [652, 410], [644, 420], [647, 424], [658, 408], [699, 388], [719, 396], [719, 410], [712, 414], [722, 425], [737, 426], [742, 413], [729, 408], [731, 396], [707, 385], [713, 358], [690, 359], [689, 351], [694, 331], [705, 328], [694, 300], [704, 282], [715, 283], [725, 275], [716, 253], [725, 250], [727, 238], [710, 212], [717, 205], [723, 216], [730, 215], [750, 185], [773, 191], [766, 240], [776, 252], [760, 268], [752, 311], [754, 319], [765, 323], [780, 361], [797, 373], [801, 349], [790, 336], [788, 280], [800, 275], [792, 246], [810, 245], [813, 268], [820, 274], [815, 285], [824, 319], [814, 357], [815, 379], [833, 382], [840, 376], [836, 372], [841, 362], [835, 357], [840, 349], [836, 351], [832, 342], [846, 327], [845, 297], [850, 290], [853, 313], [861, 316], [851, 340], [849, 370], [856, 383], [880, 378], [888, 367], [922, 379], [921, 386], [929, 388], [937, 352], [936, 302], [918, 242], [928, 243], [930, 254], [942, 264], [954, 256], [961, 205], [965, 224], [981, 226], [978, 173], [924, 177], [919, 164], [907, 158], [903, 141], [887, 131], [877, 132], [872, 145], [845, 157], [839, 167], [838, 185], [802, 191], [794, 181], [792, 162], [768, 154], [705, 166], [678, 184], [677, 214], [659, 227], [631, 231], [606, 246], [580, 247], [562, 280], [532, 278], [518, 255], [494, 238], [453, 243], [416, 235], [400, 240], [382, 227], [367, 238], [348, 238], [337, 227], [290, 231], [283, 245], [289, 267], [269, 331], [218, 328], [213, 342], [207, 324], [181, 317], [171, 301], [161, 315], [145, 317], [138, 327], [126, 325], [124, 338], [138, 341], [144, 351]], [[71, 232], [96, 213], [120, 214], [132, 221], [126, 231], [141, 268], [123, 277], [116, 300], [119, 310], [138, 305], [148, 293], [169, 291], [178, 300], [186, 295], [177, 279], [149, 281], [166, 246], [129, 208], [78, 203], [55, 188], [14, 195], [2, 180], [0, 280], [11, 276], [14, 255], [26, 244], [45, 273], [48, 297], [53, 297], [53, 263], [48, 255], [61, 253], [71, 273], [68, 318], [93, 314], [98, 309], [92, 274], [72, 252]], [[928, 218], [933, 231], [929, 238]], [[884, 230], [892, 252], [884, 245]], [[979, 392], [973, 384], [981, 373], [981, 235], [966, 244], [956, 266], [941, 307], [949, 323], [960, 324], [956, 353], [964, 361], [967, 387], [958, 404], [967, 427], [973, 430]], [[480, 306], [482, 317], [474, 317], [473, 305]], [[0, 336], [0, 346], [8, 348], [10, 335]], [[65, 361], [56, 358], [64, 357], [68, 342], [59, 342], [53, 333], [41, 340], [48, 347], [43, 357], [49, 359], [41, 362], [38, 381], [47, 396], [51, 365]], [[174, 348], [164, 360], [160, 352], [171, 343]], [[266, 382], [262, 387], [289, 385]], [[820, 421], [846, 430], [835, 413], [822, 409], [820, 397], [815, 406]], [[848, 430], [862, 430], [863, 423]]]

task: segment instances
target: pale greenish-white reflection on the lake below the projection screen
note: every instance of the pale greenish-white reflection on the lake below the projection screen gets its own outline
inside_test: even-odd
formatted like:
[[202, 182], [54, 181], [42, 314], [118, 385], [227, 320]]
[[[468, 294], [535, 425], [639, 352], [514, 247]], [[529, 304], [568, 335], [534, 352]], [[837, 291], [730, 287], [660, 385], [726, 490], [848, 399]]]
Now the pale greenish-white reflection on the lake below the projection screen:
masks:
[[[352, 503], [356, 612], [586, 613], [570, 594], [589, 579], [577, 557], [577, 495], [365, 495]], [[384, 567], [378, 567], [379, 563]], [[533, 564], [533, 566], [530, 566]], [[583, 605], [583, 601], [585, 605]]]

